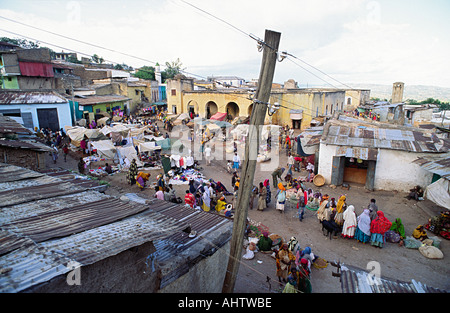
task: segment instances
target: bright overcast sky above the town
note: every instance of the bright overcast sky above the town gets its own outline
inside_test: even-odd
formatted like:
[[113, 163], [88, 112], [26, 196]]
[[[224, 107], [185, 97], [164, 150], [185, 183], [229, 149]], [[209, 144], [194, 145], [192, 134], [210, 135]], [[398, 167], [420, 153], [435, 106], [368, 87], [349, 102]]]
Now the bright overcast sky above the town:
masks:
[[20, 37], [6, 31], [14, 32], [55, 51], [134, 67], [179, 58], [196, 78], [250, 80], [259, 76], [262, 53], [247, 34], [264, 38], [270, 29], [281, 33], [279, 50], [296, 57], [277, 62], [278, 83], [450, 87], [449, 14], [448, 0], [0, 0], [0, 17], [109, 50], [4, 18], [0, 37]]

